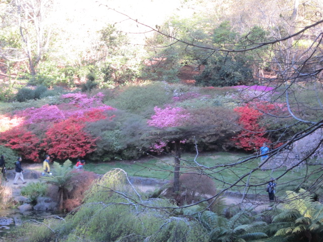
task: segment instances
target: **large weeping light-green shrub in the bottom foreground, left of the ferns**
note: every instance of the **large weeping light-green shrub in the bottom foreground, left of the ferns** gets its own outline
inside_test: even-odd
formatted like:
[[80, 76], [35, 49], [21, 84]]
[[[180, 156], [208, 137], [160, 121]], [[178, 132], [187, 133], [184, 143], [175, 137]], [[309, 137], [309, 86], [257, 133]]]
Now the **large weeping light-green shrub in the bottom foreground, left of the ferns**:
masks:
[[[127, 193], [133, 199], [138, 199], [120, 169], [106, 173], [98, 180], [98, 186], [92, 186], [83, 206], [65, 218], [65, 226], [61, 230], [61, 234], [68, 238], [65, 241], [139, 242], [146, 238], [156, 242], [208, 241], [205, 230], [195, 221], [175, 216], [169, 220], [170, 211], [165, 211], [167, 209], [118, 205], [125, 203], [127, 199], [114, 192], [102, 191], [102, 187]], [[151, 207], [174, 206], [164, 199], [146, 200], [144, 195], [141, 195], [141, 199], [142, 203], [148, 202]]]

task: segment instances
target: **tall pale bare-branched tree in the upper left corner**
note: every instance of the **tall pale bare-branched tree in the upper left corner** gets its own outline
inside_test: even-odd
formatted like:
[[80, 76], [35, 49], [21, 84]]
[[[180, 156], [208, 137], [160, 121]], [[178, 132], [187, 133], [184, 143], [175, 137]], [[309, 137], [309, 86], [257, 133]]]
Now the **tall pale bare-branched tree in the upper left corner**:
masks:
[[9, 46], [10, 43], [7, 43], [8, 48], [16, 50], [16, 57], [10, 55], [13, 51], [2, 52], [2, 56], [10, 61], [27, 60], [31, 75], [36, 75], [37, 65], [48, 52], [52, 37], [53, 25], [47, 20], [50, 18], [53, 2], [51, 0], [14, 0], [3, 7], [4, 18], [10, 18], [13, 21], [12, 29], [18, 31], [21, 43], [16, 46]]

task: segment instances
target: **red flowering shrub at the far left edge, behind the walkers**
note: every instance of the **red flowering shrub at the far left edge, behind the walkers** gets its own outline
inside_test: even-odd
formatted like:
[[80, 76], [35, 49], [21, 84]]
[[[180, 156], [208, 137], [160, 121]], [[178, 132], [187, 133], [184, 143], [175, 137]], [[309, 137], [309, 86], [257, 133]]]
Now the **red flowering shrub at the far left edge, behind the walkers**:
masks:
[[24, 128], [13, 128], [3, 132], [0, 143], [18, 151], [24, 159], [39, 162], [38, 151], [40, 140], [32, 132]]

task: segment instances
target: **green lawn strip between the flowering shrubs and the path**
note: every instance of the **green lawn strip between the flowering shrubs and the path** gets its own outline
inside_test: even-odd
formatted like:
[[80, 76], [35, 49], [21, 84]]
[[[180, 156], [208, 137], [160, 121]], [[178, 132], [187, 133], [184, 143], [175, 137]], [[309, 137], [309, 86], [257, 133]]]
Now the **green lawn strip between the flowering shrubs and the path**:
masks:
[[[241, 157], [245, 157], [247, 154], [245, 153], [230, 153], [230, 152], [216, 152], [216, 153], [208, 153], [201, 154], [198, 156], [196, 161], [203, 166], [213, 167], [217, 164], [228, 164], [238, 160]], [[193, 171], [191, 167], [195, 166], [194, 164], [195, 154], [183, 154], [181, 164], [185, 167], [182, 168], [181, 171]], [[151, 158], [151, 159], [141, 159], [136, 161], [117, 161], [110, 163], [87, 163], [85, 165], [85, 169], [89, 171], [93, 171], [95, 173], [104, 174], [107, 171], [113, 168], [121, 168], [125, 170], [130, 176], [141, 176], [141, 177], [152, 177], [158, 179], [172, 179], [173, 174], [173, 161], [174, 158], [171, 156], [163, 157], [160, 159]], [[253, 184], [266, 184], [271, 177], [277, 178], [280, 177], [285, 172], [285, 169], [281, 170], [256, 170], [249, 177], [249, 172], [253, 167], [257, 166], [257, 160], [249, 161], [244, 164], [236, 165], [234, 168], [232, 167], [220, 167], [215, 169], [207, 169], [207, 172], [214, 177], [216, 186], [218, 189], [222, 190], [234, 184], [236, 180], [242, 176], [246, 176], [240, 181], [237, 186], [231, 190], [233, 191], [241, 191], [244, 189], [248, 189], [247, 193], [257, 193], [257, 194], [266, 194], [265, 187], [266, 185], [260, 187], [252, 187]], [[306, 172], [312, 172], [320, 168], [317, 165], [308, 166], [307, 169], [298, 169], [292, 172], [288, 172], [282, 178], [277, 179], [277, 190], [279, 190], [279, 185], [286, 184], [289, 181], [295, 180], [296, 183], [302, 183], [304, 179], [303, 177]], [[320, 172], [311, 175], [308, 180], [314, 180], [320, 175]], [[299, 180], [297, 180], [299, 179]], [[225, 181], [225, 183], [223, 182]], [[249, 185], [251, 187], [246, 188], [246, 182], [249, 180]]]

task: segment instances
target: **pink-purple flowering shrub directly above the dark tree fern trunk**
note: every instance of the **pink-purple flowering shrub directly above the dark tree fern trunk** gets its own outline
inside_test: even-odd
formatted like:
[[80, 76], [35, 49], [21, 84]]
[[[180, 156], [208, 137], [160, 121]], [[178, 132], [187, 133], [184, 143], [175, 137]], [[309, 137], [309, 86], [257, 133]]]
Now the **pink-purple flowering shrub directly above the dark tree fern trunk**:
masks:
[[165, 109], [154, 107], [155, 114], [147, 121], [149, 126], [154, 127], [176, 127], [185, 124], [190, 118], [190, 113], [187, 113], [181, 107], [166, 107]]

